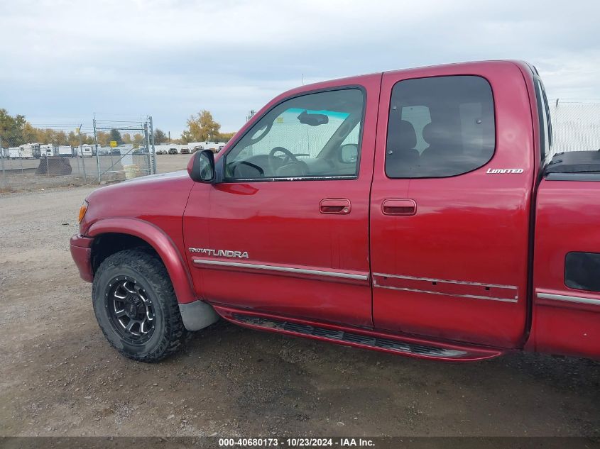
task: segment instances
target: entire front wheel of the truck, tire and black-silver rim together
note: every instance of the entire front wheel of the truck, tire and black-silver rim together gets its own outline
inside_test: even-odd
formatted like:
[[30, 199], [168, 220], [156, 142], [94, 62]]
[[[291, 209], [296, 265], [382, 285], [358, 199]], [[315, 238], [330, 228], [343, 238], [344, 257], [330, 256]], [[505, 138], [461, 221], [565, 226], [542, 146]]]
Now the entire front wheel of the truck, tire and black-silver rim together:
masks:
[[104, 336], [133, 360], [158, 362], [190, 336], [165, 266], [143, 249], [124, 250], [102, 262], [92, 301]]

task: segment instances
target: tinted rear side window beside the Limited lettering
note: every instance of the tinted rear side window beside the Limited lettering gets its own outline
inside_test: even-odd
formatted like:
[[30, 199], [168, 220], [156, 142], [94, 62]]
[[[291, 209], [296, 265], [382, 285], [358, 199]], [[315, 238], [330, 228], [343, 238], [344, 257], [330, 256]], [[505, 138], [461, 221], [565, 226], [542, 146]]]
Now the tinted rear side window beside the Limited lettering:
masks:
[[485, 165], [493, 156], [493, 97], [481, 77], [407, 79], [392, 89], [386, 174], [448, 177]]

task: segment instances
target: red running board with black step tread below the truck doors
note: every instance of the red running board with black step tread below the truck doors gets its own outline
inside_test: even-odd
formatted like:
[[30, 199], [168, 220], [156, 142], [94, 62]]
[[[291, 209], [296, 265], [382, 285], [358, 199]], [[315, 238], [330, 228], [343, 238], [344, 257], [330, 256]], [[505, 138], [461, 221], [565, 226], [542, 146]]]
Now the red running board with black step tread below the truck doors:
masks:
[[293, 336], [315, 338], [331, 343], [350, 345], [359, 348], [408, 355], [433, 360], [447, 361], [473, 361], [496, 357], [503, 353], [502, 350], [480, 348], [456, 344], [437, 344], [432, 342], [420, 342], [415, 338], [402, 338], [378, 334], [373, 331], [359, 333], [353, 330], [340, 329], [339, 326], [323, 327], [315, 323], [307, 324], [284, 320], [276, 317], [258, 316], [245, 314], [243, 311], [215, 306], [217, 312], [227, 320], [241, 326], [256, 328], [263, 331], [286, 333]]

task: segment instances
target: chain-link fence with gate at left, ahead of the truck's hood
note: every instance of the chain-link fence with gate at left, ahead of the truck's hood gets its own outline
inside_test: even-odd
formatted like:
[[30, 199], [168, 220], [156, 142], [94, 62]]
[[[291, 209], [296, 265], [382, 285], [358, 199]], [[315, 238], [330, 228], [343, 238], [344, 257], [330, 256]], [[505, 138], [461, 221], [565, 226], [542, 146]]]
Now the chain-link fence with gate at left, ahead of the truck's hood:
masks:
[[152, 118], [27, 123], [0, 135], [0, 192], [104, 184], [156, 173]]

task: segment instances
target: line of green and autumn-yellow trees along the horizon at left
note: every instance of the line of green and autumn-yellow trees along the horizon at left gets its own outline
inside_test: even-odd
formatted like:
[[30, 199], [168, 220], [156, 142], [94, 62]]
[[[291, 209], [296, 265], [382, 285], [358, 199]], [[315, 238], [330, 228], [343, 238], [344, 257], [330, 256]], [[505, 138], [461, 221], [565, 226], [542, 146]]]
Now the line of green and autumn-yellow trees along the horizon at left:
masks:
[[[227, 142], [235, 133], [222, 133], [221, 125], [214, 120], [212, 113], [202, 110], [192, 114], [187, 120], [187, 128], [180, 138], [169, 140], [167, 133], [160, 129], [154, 131], [154, 143], [188, 143], [188, 142]], [[111, 140], [117, 144], [131, 143], [134, 147], [143, 145], [144, 136], [141, 133], [121, 133], [118, 129], [97, 131], [98, 145], [109, 145]], [[17, 147], [24, 143], [51, 143], [53, 145], [93, 144], [94, 135], [73, 131], [62, 131], [52, 128], [36, 128], [26, 121], [25, 116], [11, 116], [6, 109], [0, 109], [0, 139], [2, 146]]]

